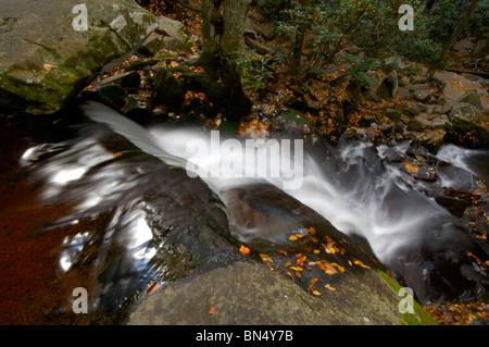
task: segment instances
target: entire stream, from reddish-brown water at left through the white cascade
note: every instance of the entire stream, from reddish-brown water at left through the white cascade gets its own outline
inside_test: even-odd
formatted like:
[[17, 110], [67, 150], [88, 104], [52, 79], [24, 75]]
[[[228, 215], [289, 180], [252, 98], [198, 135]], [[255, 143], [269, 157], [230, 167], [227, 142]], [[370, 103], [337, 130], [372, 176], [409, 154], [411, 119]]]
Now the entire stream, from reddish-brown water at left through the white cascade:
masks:
[[[143, 127], [96, 102], [70, 110], [72, 121], [11, 124], [2, 134], [5, 321], [123, 321], [121, 308], [152, 283], [230, 262], [241, 243], [290, 233], [286, 218], [263, 216], [288, 208], [275, 195], [294, 198], [369, 249], [423, 303], [480, 297], [489, 285], [487, 241], [436, 199], [443, 187], [481, 188], [489, 150], [443, 145], [432, 157], [438, 179], [424, 182], [386, 162], [387, 146], [254, 141], [239, 153], [243, 140], [223, 150], [223, 134], [216, 145], [216, 134], [199, 127]], [[260, 158], [275, 164], [262, 170]], [[271, 191], [253, 201], [263, 215], [238, 203], [239, 191], [256, 187]], [[487, 196], [478, 206], [487, 211]], [[72, 314], [75, 287], [96, 294], [96, 315]]]

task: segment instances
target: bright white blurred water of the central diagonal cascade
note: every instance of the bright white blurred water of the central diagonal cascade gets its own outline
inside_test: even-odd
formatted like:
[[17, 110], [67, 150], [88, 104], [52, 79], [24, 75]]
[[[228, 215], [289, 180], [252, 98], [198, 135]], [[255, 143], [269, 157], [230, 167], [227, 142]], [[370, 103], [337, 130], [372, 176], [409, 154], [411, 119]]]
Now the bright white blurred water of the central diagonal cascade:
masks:
[[[86, 114], [97, 122], [109, 124], [115, 132], [131, 140], [143, 151], [151, 153], [164, 162], [185, 168], [187, 160], [195, 152], [187, 151], [189, 141], [200, 139], [210, 145], [209, 136], [201, 129], [181, 129], [154, 127], [147, 131], [114, 111], [100, 106], [90, 104], [84, 108]], [[363, 163], [365, 145], [359, 144], [343, 149], [339, 163], [342, 171], [336, 175], [325, 171], [321, 163], [304, 154], [299, 168], [303, 175], [302, 185], [293, 189], [285, 189], [289, 195], [309, 206], [338, 230], [346, 234], [364, 236], [380, 260], [386, 261], [400, 247], [421, 243], [427, 228], [432, 227], [449, 213], [435, 202], [416, 191], [405, 191], [398, 186], [399, 175], [391, 170], [372, 171], [368, 163]], [[263, 148], [266, 150], [266, 148]], [[279, 148], [268, 146], [272, 156], [279, 156]], [[229, 153], [212, 151], [199, 152], [200, 165], [210, 170], [217, 162], [223, 162]], [[195, 158], [195, 157], [193, 157]], [[244, 168], [254, 168], [255, 162], [243, 156]], [[256, 177], [212, 177], [203, 175], [202, 179], [217, 194], [226, 189], [244, 185], [255, 179], [265, 179], [283, 188], [284, 177], [269, 177], [263, 171], [255, 170]], [[351, 175], [347, 182], [342, 176]], [[244, 176], [244, 175], [243, 175]], [[403, 187], [404, 188], [404, 187]]]

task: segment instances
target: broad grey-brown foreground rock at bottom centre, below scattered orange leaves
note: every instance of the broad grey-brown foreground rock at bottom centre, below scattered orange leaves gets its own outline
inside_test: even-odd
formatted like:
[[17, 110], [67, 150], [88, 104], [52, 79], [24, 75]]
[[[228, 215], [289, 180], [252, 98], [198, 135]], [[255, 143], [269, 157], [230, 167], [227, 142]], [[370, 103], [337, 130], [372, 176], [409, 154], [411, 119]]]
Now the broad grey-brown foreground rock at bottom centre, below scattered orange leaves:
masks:
[[[363, 272], [344, 277], [344, 286], [335, 292], [316, 284], [323, 295], [314, 296], [265, 264], [239, 261], [148, 297], [128, 325], [405, 323], [397, 293], [380, 276]], [[215, 314], [209, 313], [210, 306]], [[421, 321], [417, 314], [410, 314], [415, 322]]]

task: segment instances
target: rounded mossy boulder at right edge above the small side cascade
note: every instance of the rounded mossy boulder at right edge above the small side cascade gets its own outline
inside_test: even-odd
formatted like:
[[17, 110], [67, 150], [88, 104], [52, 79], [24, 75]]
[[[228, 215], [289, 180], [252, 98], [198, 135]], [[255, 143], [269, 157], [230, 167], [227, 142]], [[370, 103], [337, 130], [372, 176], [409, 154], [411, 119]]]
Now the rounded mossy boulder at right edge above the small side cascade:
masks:
[[488, 117], [476, 107], [460, 102], [455, 103], [449, 113], [449, 137], [452, 141], [480, 147], [489, 144]]

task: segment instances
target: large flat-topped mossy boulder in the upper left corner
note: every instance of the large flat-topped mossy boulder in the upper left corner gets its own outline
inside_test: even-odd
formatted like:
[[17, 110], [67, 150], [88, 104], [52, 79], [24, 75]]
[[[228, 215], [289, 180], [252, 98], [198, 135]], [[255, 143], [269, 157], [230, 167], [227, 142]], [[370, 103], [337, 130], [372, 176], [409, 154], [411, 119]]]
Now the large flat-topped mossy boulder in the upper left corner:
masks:
[[33, 114], [59, 111], [158, 26], [134, 0], [3, 0], [1, 8], [0, 107]]

